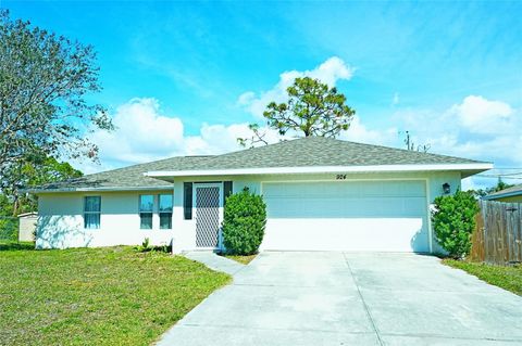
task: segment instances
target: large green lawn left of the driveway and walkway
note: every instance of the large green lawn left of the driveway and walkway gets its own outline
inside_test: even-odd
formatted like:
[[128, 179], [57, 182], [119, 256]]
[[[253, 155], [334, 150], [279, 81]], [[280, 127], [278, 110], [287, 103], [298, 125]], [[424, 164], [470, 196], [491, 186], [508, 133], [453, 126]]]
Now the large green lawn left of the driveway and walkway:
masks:
[[0, 345], [150, 345], [231, 281], [184, 257], [130, 247], [7, 247]]

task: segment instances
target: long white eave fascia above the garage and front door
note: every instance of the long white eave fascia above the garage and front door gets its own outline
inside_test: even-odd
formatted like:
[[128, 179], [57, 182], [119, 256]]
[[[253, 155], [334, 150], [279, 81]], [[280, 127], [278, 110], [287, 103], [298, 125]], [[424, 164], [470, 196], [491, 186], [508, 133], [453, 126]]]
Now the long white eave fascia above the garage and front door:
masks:
[[398, 171], [461, 171], [469, 177], [493, 168], [490, 163], [471, 164], [428, 164], [428, 165], [373, 165], [373, 166], [306, 166], [306, 167], [264, 167], [236, 169], [197, 169], [197, 170], [156, 170], [144, 174], [157, 179], [202, 176], [251, 176], [251, 175], [291, 175], [324, 172], [398, 172]]

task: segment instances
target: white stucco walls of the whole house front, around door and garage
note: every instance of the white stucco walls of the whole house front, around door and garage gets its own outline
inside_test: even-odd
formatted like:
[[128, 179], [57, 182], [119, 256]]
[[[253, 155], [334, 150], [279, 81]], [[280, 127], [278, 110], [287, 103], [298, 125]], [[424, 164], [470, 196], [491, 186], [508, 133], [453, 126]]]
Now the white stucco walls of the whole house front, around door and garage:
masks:
[[[451, 193], [460, 189], [459, 171], [439, 172], [394, 172], [394, 174], [350, 174], [346, 180], [394, 180], [423, 179], [426, 182], [426, 204], [443, 194], [443, 183], [451, 185]], [[250, 191], [262, 193], [262, 182], [268, 181], [331, 181], [336, 180], [336, 174], [323, 175], [271, 175], [239, 177], [184, 177], [176, 179], [173, 191], [147, 192], [100, 192], [100, 193], [54, 193], [39, 195], [38, 248], [77, 247], [77, 246], [111, 246], [136, 245], [145, 238], [152, 244], [170, 244], [173, 251], [181, 252], [196, 248], [196, 221], [184, 219], [183, 183], [197, 181], [233, 181], [233, 191], [241, 191], [248, 187]], [[139, 228], [138, 198], [139, 194], [173, 193], [173, 229], [160, 230], [158, 210], [153, 214], [153, 229]], [[100, 229], [84, 229], [83, 203], [86, 195], [101, 196]], [[158, 198], [158, 197], [157, 197]], [[154, 207], [158, 207], [156, 201]], [[427, 220], [430, 223], [430, 220]], [[430, 225], [428, 225], [430, 227]], [[432, 232], [433, 234], [433, 232]], [[438, 251], [433, 241], [434, 251]]]

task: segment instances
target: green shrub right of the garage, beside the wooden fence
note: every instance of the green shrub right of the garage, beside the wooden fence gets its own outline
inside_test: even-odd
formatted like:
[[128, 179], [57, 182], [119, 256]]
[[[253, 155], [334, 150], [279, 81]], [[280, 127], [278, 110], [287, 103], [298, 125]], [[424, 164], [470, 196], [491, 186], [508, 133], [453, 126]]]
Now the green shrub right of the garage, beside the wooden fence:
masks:
[[453, 258], [465, 257], [471, 249], [478, 204], [473, 194], [457, 191], [455, 195], [435, 198], [432, 222], [437, 242]]

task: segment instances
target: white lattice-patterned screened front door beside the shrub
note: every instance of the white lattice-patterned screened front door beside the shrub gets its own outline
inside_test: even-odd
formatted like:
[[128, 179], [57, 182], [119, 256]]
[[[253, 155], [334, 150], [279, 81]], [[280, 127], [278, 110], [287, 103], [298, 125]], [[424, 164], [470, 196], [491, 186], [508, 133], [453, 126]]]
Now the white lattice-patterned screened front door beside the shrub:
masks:
[[216, 248], [221, 226], [221, 183], [195, 184], [196, 246]]

